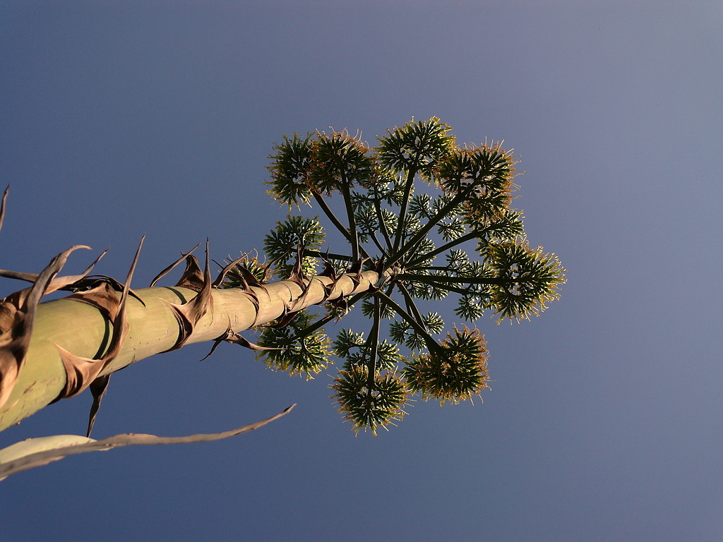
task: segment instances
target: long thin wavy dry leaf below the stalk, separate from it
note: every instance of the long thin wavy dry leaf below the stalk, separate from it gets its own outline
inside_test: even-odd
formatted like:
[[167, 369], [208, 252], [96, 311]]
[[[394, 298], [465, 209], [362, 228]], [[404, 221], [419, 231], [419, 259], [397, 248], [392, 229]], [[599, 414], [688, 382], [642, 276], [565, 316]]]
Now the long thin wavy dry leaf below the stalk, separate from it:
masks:
[[100, 452], [106, 449], [123, 446], [149, 444], [187, 444], [190, 442], [211, 442], [228, 439], [249, 431], [254, 431], [267, 423], [286, 416], [296, 405], [285, 408], [280, 413], [265, 420], [249, 423], [247, 426], [223, 431], [223, 433], [195, 434], [189, 436], [155, 436], [148, 434], [121, 434], [109, 436], [107, 439], [93, 440], [78, 435], [44, 436], [38, 439], [27, 439], [0, 449], [0, 480], [11, 474], [20, 473], [34, 467], [47, 465], [69, 455], [85, 452]]

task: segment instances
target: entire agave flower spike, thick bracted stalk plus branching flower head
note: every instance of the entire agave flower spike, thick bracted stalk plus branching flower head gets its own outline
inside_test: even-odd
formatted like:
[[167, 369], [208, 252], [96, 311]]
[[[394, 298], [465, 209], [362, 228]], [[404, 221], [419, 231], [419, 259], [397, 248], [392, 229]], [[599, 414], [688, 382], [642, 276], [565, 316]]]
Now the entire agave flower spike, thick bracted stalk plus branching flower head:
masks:
[[[203, 268], [183, 254], [153, 287], [134, 289], [135, 263], [124, 283], [90, 268], [59, 276], [85, 248], [75, 246], [37, 275], [0, 270], [32, 283], [0, 301], [0, 429], [90, 388], [90, 432], [114, 371], [210, 341], [211, 353], [243, 345], [271, 369], [307, 379], [340, 358], [333, 397], [354, 431], [376, 434], [406, 415], [414, 395], [458, 403], [487, 387], [482, 333], [455, 326], [440, 338], [442, 317], [422, 314], [419, 302], [452, 294], [465, 322], [486, 313], [518, 321], [559, 297], [565, 270], [524, 236], [511, 207], [515, 160], [501, 145], [458, 147], [450, 126], [432, 118], [388, 130], [373, 148], [346, 131], [294, 134], [270, 160], [268, 193], [290, 215], [265, 239], [268, 264], [244, 255], [212, 280], [207, 244]], [[348, 246], [325, 246], [320, 217], [298, 212], [307, 205]], [[155, 285], [182, 262], [175, 285]], [[58, 290], [69, 296], [40, 303]], [[330, 339], [325, 325], [356, 304], [371, 320], [367, 338], [346, 329]], [[257, 333], [255, 343], [244, 330]]]

